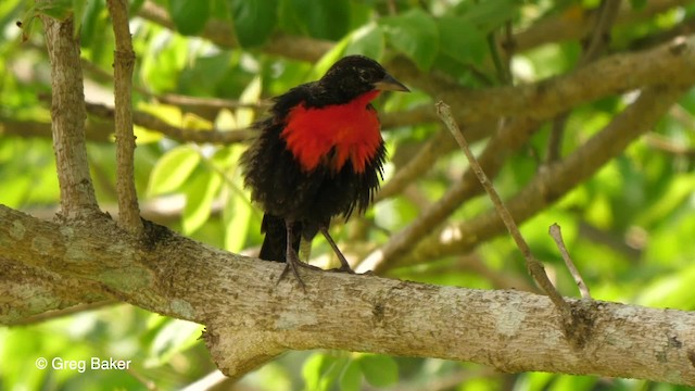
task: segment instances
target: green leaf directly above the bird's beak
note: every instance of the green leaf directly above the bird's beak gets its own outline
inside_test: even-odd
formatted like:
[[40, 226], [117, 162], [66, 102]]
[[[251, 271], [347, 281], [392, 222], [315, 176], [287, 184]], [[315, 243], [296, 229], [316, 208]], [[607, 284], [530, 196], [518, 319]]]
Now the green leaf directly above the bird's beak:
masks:
[[382, 17], [379, 23], [395, 49], [427, 71], [439, 51], [437, 23], [420, 9], [410, 9], [397, 16]]

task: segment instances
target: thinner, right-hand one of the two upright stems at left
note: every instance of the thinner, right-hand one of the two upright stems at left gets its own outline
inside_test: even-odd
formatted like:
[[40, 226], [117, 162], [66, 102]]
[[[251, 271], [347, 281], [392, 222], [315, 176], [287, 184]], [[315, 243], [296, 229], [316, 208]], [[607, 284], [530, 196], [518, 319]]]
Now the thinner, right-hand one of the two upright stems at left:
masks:
[[132, 134], [132, 68], [135, 52], [128, 26], [128, 2], [106, 0], [116, 40], [114, 51], [114, 100], [116, 127], [116, 193], [118, 224], [131, 234], [142, 231], [138, 194], [135, 189], [135, 135]]

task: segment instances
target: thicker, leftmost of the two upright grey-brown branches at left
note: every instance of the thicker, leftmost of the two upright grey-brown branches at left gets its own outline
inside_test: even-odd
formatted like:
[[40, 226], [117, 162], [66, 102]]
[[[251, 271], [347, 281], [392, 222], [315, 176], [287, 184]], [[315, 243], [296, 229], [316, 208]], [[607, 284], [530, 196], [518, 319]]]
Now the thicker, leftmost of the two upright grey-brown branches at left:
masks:
[[61, 188], [61, 214], [67, 219], [99, 212], [85, 148], [85, 93], [79, 40], [72, 16], [64, 22], [41, 16], [51, 61], [53, 150]]

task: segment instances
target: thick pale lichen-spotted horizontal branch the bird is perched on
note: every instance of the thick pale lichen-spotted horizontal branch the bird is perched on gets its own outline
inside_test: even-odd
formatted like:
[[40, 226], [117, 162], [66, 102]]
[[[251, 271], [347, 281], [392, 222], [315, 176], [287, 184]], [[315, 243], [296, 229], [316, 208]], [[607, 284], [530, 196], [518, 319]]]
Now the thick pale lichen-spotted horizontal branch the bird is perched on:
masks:
[[[282, 265], [163, 227], [148, 225], [139, 241], [119, 232], [108, 219], [59, 226], [0, 206], [10, 262], [204, 324], [214, 360], [232, 377], [287, 350], [327, 348], [695, 384], [695, 313], [569, 300], [585, 327], [570, 342], [552, 303], [532, 293], [307, 270], [304, 294], [289, 281], [275, 286]], [[11, 308], [0, 306], [3, 323]]]

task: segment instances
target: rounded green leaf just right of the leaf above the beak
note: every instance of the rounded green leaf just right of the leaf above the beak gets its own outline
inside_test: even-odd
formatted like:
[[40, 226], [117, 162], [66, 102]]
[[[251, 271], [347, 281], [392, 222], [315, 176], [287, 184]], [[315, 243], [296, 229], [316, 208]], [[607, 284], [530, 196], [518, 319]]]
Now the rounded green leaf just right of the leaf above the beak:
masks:
[[442, 53], [462, 63], [481, 63], [488, 53], [485, 35], [460, 16], [437, 20]]

